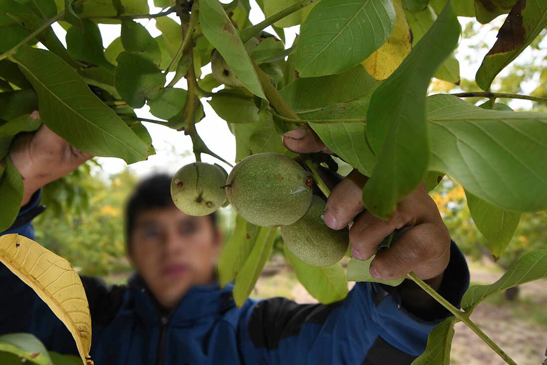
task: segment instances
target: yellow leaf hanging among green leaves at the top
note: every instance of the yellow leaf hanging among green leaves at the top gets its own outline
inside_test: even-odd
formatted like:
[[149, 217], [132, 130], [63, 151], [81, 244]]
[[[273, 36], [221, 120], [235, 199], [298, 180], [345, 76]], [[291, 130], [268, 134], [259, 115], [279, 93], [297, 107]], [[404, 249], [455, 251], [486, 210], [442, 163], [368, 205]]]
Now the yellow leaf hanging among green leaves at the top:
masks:
[[366, 71], [377, 80], [388, 78], [412, 49], [410, 26], [406, 22], [401, 0], [393, 0], [393, 7], [397, 16], [393, 33], [391, 33], [391, 36], [389, 36], [387, 42], [382, 47], [375, 50], [373, 54], [362, 62]]

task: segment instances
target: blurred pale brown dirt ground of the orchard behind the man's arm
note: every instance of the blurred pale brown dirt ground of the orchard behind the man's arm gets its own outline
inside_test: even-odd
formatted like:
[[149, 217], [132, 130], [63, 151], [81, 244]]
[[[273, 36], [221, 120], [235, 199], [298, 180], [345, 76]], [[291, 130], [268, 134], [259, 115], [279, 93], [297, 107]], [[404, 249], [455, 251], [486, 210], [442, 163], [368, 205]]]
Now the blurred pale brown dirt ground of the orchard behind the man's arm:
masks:
[[[290, 269], [276, 275], [264, 275], [253, 296], [266, 298], [283, 295], [298, 303], [316, 303], [296, 281]], [[473, 284], [489, 284], [502, 272], [490, 263], [470, 264]], [[349, 283], [350, 287], [353, 283]], [[476, 307], [472, 320], [519, 365], [542, 365], [547, 347], [547, 280], [524, 284], [519, 298], [510, 303], [503, 294]], [[456, 323], [452, 342], [451, 364], [503, 365], [505, 362], [465, 324]]]

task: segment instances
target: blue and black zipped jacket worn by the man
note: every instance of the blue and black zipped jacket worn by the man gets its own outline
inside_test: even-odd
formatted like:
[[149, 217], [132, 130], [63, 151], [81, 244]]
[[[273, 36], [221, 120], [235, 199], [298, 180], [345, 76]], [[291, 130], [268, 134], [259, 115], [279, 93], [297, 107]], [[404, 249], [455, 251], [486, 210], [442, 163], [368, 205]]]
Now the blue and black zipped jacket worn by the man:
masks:
[[[5, 233], [33, 238], [39, 192]], [[397, 290], [360, 282], [337, 303], [296, 304], [248, 299], [238, 308], [231, 284], [191, 288], [162, 312], [138, 275], [107, 287], [82, 276], [88, 296], [96, 365], [409, 364], [447, 312], [424, 320], [400, 305]], [[462, 253], [452, 242], [440, 292], [452, 304], [469, 285]], [[387, 289], [387, 290], [386, 290]], [[36, 294], [0, 264], [0, 334], [30, 332], [50, 350], [77, 354], [68, 330]]]

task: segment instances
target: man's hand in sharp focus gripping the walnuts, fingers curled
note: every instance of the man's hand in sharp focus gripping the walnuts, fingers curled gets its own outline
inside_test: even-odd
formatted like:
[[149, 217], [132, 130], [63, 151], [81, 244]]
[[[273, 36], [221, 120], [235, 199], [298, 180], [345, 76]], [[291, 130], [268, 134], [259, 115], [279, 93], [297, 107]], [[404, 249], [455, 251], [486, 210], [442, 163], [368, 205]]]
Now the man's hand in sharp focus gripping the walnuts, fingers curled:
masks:
[[[331, 152], [308, 126], [285, 133], [283, 144], [296, 153]], [[437, 289], [450, 259], [450, 235], [424, 184], [399, 202], [395, 213], [384, 221], [363, 207], [362, 190], [367, 180], [354, 169], [334, 187], [323, 215], [325, 223], [339, 230], [353, 221], [352, 255], [367, 260], [376, 254], [370, 265], [374, 277], [389, 280], [414, 271]], [[405, 232], [389, 249], [377, 252], [382, 240], [395, 229]]]

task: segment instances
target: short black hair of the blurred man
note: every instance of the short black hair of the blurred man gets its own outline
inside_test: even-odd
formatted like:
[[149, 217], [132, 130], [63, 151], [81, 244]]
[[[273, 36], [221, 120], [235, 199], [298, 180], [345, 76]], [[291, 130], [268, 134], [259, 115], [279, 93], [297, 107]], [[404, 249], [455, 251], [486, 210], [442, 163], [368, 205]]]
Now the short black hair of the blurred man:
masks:
[[[155, 173], [139, 181], [135, 190], [127, 198], [125, 205], [125, 249], [127, 253], [131, 252], [131, 232], [135, 227], [137, 216], [146, 210], [154, 208], [174, 207], [171, 198], [171, 179], [172, 176], [166, 173]], [[213, 229], [217, 230], [216, 212], [208, 215], [213, 224]]]

